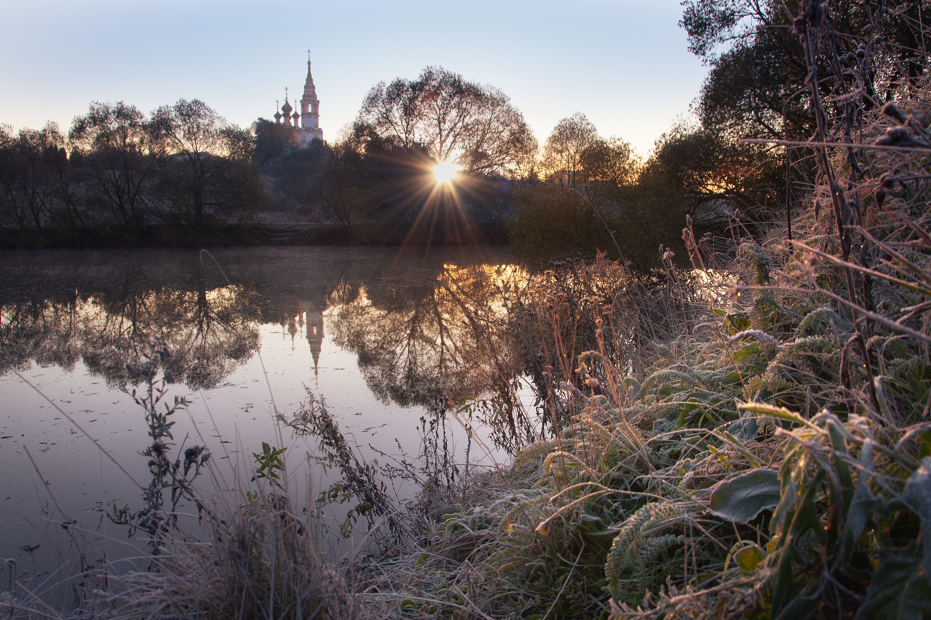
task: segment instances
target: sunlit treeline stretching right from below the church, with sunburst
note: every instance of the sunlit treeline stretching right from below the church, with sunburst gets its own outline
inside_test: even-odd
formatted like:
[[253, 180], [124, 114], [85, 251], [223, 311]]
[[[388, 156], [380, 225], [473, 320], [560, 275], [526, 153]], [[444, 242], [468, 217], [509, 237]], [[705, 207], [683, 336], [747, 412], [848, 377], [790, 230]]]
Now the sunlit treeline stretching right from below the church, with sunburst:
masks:
[[[681, 245], [686, 215], [720, 230], [779, 186], [763, 149], [697, 124], [676, 125], [644, 161], [576, 112], [541, 147], [504, 93], [439, 67], [374, 86], [334, 143], [300, 148], [288, 125], [252, 127], [263, 217], [306, 218], [318, 238], [349, 243], [506, 240], [529, 261], [604, 251], [649, 269], [660, 244]], [[433, 177], [439, 161], [461, 171], [452, 187]]]

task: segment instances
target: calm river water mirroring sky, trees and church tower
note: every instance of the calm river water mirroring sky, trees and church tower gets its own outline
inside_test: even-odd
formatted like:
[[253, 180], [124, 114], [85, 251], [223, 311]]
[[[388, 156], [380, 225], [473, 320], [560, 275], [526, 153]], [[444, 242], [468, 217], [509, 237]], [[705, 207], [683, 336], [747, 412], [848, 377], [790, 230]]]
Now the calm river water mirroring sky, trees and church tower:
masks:
[[[125, 528], [101, 508], [142, 502], [111, 457], [148, 482], [142, 409], [120, 386], [126, 364], [140, 363], [155, 336], [173, 354], [166, 365], [178, 383], [169, 399], [193, 402], [189, 416], [175, 416], [175, 449], [208, 445], [223, 477], [214, 489], [201, 483], [208, 493], [248, 488], [262, 442], [288, 447], [291, 473], [306, 472], [314, 442], [274, 422], [275, 408], [295, 411], [305, 389], [326, 399], [367, 457], [382, 460], [379, 451], [401, 454], [398, 443], [417, 455], [422, 418], [444, 395], [491, 389], [467, 315], [503, 311], [497, 284], [515, 272], [503, 250], [235, 248], [213, 256], [229, 283], [207, 254], [187, 249], [3, 255], [0, 557], [28, 564], [19, 547], [43, 544], [38, 561], [56, 540], [66, 545], [61, 521], [96, 533], [90, 539], [111, 557], [129, 553]], [[466, 433], [452, 419], [446, 426], [461, 458]], [[489, 445], [492, 430], [479, 425]], [[316, 471], [313, 493], [332, 475]], [[334, 518], [342, 516], [337, 509]]]

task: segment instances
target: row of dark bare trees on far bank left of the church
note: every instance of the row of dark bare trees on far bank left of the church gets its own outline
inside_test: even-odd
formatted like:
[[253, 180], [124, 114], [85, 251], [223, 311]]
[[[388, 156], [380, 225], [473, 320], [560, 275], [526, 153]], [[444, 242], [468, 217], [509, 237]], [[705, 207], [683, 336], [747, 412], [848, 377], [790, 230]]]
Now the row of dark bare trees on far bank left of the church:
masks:
[[248, 129], [196, 99], [150, 114], [91, 103], [67, 135], [0, 125], [0, 229], [66, 244], [243, 221], [262, 195], [253, 150]]

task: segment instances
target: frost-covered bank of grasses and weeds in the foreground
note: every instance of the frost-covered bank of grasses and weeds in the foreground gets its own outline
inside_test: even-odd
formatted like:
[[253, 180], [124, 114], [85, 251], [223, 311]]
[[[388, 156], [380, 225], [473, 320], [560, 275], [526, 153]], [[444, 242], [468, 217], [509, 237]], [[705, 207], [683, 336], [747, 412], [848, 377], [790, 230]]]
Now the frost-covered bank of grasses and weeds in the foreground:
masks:
[[[493, 398], [444, 400], [422, 418], [421, 457], [379, 467], [308, 391], [300, 410], [276, 419], [282, 430], [315, 438], [317, 456], [340, 472], [317, 502], [292, 505], [295, 494], [270, 481], [281, 444], [268, 432], [267, 450], [256, 451], [241, 478], [253, 476], [251, 483], [236, 484], [236, 501], [214, 506], [191, 494], [189, 506], [204, 506], [209, 538], [155, 532], [169, 552], [126, 578], [110, 566], [86, 569], [82, 580], [93, 575], [99, 589], [88, 587], [80, 604], [111, 617], [304, 618], [311, 616], [282, 607], [298, 591], [289, 579], [316, 574], [313, 583], [324, 588], [301, 589], [311, 600], [295, 604], [312, 602], [341, 618], [781, 612], [870, 620], [922, 609], [931, 589], [922, 542], [931, 536], [924, 344], [931, 336], [917, 316], [897, 318], [899, 309], [926, 308], [922, 299], [931, 297], [931, 245], [919, 223], [926, 210], [923, 202], [912, 217], [889, 212], [870, 225], [877, 248], [893, 260], [869, 271], [877, 310], [869, 310], [866, 336], [858, 330], [867, 323], [856, 317], [868, 310], [843, 297], [850, 295], [844, 270], [857, 265], [812, 249], [817, 243], [840, 253], [836, 238], [823, 234], [833, 224], [827, 211], [796, 219], [794, 249], [779, 230], [758, 242], [699, 245], [687, 229], [692, 269], [666, 257], [668, 270], [646, 280], [604, 257], [561, 262], [520, 286], [506, 270], [482, 270], [495, 277], [486, 288], [504, 297], [477, 305], [474, 277], [459, 284], [430, 278], [430, 298], [446, 306], [423, 311], [418, 296], [412, 316], [463, 326], [484, 356], [472, 365], [497, 374]], [[396, 297], [385, 287], [386, 302]], [[352, 308], [372, 306], [367, 297]], [[368, 334], [377, 319], [358, 317], [361, 331], [347, 341]], [[425, 342], [417, 323], [391, 323]], [[430, 342], [448, 335], [429, 333]], [[492, 334], [522, 351], [519, 372], [503, 363], [505, 342]], [[385, 358], [385, 339], [373, 338], [359, 359]], [[388, 351], [398, 350], [396, 338], [387, 340]], [[862, 358], [859, 342], [869, 351]], [[534, 412], [519, 403], [528, 382], [542, 416], [528, 416]], [[319, 396], [327, 395], [321, 386]], [[475, 419], [497, 423], [492, 439], [512, 442], [509, 460], [469, 469], [447, 458], [445, 429]], [[477, 436], [471, 440], [476, 453], [485, 449]], [[169, 470], [182, 480], [178, 468]], [[388, 497], [398, 479], [418, 486], [413, 501]], [[304, 485], [287, 480], [294, 489]], [[340, 507], [336, 519], [316, 512], [325, 504]], [[153, 510], [168, 514], [160, 505]], [[313, 542], [322, 539], [307, 535], [324, 523], [357, 536], [345, 561], [329, 567]], [[237, 564], [242, 558], [252, 561]], [[20, 602], [0, 600], [0, 611], [37, 617], [38, 608], [24, 602], [27, 584], [19, 583]], [[199, 594], [203, 587], [210, 596]], [[829, 596], [812, 596], [819, 590]]]

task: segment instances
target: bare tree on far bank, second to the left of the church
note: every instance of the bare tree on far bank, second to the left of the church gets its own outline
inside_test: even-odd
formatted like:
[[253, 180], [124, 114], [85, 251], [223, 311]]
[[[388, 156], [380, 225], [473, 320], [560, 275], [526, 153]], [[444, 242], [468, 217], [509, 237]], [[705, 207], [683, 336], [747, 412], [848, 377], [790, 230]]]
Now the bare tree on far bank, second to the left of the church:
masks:
[[149, 185], [163, 155], [145, 114], [123, 101], [92, 102], [87, 114], [74, 117], [68, 140], [91, 172], [89, 202], [106, 205], [123, 226], [145, 223]]

